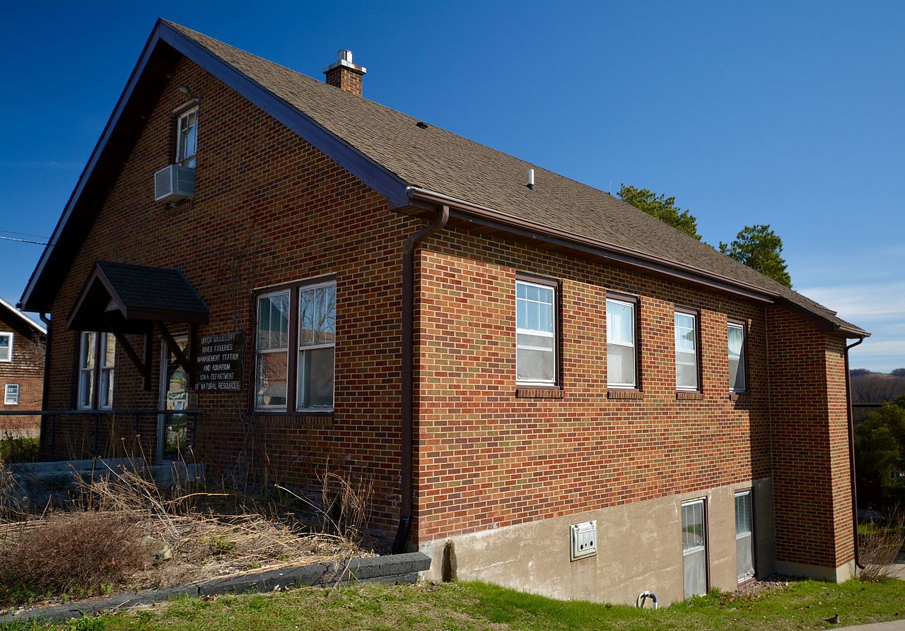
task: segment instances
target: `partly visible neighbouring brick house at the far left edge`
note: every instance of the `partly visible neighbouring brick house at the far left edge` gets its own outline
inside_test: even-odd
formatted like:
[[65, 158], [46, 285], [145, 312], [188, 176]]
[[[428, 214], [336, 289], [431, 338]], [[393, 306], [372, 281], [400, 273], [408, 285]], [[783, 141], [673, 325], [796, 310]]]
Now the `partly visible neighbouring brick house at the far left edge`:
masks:
[[[0, 298], [0, 410], [41, 410], [46, 330]], [[40, 416], [0, 416], [0, 440], [5, 435], [37, 436]]]

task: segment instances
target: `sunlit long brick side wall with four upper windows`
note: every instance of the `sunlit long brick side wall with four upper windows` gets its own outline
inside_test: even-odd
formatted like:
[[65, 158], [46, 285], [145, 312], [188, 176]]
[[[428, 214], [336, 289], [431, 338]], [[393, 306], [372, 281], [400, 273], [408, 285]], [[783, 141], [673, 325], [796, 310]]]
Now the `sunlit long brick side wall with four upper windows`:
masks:
[[[562, 281], [561, 399], [516, 396], [517, 271]], [[460, 231], [420, 287], [419, 541], [770, 475], [762, 306]], [[641, 296], [641, 400], [608, 398], [608, 290]], [[702, 400], [677, 400], [674, 306], [700, 309]], [[727, 316], [749, 325], [738, 400]]]

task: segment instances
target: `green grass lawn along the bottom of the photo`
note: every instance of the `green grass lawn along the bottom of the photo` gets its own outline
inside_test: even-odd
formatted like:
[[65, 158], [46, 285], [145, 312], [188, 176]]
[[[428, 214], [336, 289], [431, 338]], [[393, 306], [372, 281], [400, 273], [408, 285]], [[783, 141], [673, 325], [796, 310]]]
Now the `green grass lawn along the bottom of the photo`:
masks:
[[[365, 585], [348, 589], [294, 589], [212, 599], [183, 598], [151, 610], [72, 621], [78, 631], [118, 629], [312, 629], [415, 631], [488, 629], [823, 629], [836, 612], [842, 625], [905, 617], [905, 581], [841, 585], [795, 581], [786, 589], [735, 596], [712, 592], [659, 611], [623, 605], [562, 602], [482, 583]], [[67, 626], [63, 626], [66, 628]], [[3, 631], [44, 628], [0, 626]]]

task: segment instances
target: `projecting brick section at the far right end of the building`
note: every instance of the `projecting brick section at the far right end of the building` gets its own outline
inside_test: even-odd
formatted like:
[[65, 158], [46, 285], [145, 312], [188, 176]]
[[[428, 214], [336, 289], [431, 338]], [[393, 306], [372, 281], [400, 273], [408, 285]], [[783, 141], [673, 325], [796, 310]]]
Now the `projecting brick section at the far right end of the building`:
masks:
[[776, 558], [853, 558], [844, 340], [769, 307]]

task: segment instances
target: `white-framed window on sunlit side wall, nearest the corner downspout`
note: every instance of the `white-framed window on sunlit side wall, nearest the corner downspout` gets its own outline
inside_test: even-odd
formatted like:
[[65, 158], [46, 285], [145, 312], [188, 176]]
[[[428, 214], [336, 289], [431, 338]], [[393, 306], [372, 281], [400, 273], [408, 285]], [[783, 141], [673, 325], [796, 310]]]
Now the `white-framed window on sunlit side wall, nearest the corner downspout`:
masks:
[[516, 381], [556, 385], [557, 288], [521, 279], [515, 287]]

